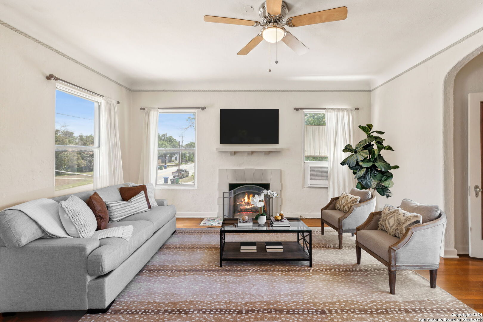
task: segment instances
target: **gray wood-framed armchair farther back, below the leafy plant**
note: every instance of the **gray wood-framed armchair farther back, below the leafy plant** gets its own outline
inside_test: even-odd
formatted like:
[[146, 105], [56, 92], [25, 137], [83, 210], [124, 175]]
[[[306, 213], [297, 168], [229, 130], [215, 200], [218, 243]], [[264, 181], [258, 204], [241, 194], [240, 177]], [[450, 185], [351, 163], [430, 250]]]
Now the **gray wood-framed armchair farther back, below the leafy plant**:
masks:
[[324, 224], [337, 230], [339, 233], [339, 249], [342, 249], [342, 234], [351, 233], [354, 236], [355, 227], [364, 223], [369, 213], [374, 211], [376, 207], [376, 198], [374, 195], [371, 195], [369, 190], [352, 188], [349, 194], [360, 196], [361, 199], [348, 212], [335, 209], [335, 203], [339, 200], [339, 197], [330, 199], [327, 206], [320, 210], [322, 235], [324, 235]]

